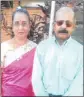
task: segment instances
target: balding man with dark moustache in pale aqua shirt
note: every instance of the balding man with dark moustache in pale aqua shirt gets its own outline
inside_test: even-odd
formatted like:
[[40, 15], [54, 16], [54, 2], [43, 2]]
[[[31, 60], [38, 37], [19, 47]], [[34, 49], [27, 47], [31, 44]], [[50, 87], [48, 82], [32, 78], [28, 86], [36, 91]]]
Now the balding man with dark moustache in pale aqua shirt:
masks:
[[71, 8], [60, 8], [55, 35], [37, 46], [32, 74], [36, 96], [83, 96], [83, 46], [71, 38], [75, 22]]

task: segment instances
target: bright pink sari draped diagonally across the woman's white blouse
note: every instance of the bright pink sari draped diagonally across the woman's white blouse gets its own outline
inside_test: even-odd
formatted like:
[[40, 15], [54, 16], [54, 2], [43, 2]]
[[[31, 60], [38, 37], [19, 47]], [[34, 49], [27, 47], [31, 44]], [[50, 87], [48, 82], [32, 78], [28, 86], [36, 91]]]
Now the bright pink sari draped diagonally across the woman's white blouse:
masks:
[[[16, 60], [12, 58], [14, 60], [3, 68], [2, 96], [34, 96], [31, 76], [35, 47], [29, 46], [24, 54]], [[18, 55], [18, 52], [15, 53]], [[13, 55], [11, 54], [11, 56]], [[11, 56], [9, 60], [11, 60]]]

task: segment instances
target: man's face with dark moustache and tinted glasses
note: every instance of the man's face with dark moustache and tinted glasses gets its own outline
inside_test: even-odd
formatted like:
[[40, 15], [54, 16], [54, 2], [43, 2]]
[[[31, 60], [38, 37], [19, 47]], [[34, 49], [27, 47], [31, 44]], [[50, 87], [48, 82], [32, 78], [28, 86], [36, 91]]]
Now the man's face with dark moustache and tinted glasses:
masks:
[[59, 12], [56, 17], [56, 22], [54, 24], [54, 32], [58, 39], [66, 40], [72, 34], [75, 23], [74, 17], [71, 13]]

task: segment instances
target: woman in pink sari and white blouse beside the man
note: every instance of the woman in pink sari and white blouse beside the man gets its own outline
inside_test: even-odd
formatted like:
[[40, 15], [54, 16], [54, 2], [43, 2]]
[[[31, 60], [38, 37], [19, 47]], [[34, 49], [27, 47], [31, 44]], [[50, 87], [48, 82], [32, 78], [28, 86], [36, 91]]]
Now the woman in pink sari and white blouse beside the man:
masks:
[[2, 96], [34, 96], [31, 84], [36, 44], [27, 37], [30, 17], [19, 8], [12, 15], [14, 37], [1, 44]]

